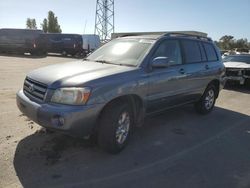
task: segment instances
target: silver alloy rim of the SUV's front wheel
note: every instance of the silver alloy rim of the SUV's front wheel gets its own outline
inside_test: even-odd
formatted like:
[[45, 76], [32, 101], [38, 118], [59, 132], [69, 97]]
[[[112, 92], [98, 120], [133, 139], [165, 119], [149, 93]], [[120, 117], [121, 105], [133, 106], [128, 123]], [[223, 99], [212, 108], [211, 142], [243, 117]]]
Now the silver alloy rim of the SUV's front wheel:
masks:
[[116, 129], [116, 141], [123, 144], [128, 136], [130, 127], [130, 117], [128, 112], [123, 112], [118, 119], [118, 127]]

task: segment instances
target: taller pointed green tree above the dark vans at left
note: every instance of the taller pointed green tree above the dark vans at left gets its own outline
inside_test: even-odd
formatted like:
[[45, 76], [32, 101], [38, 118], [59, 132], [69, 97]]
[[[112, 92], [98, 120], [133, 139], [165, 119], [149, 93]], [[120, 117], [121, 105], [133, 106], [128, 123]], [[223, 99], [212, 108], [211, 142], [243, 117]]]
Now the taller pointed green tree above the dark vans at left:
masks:
[[54, 12], [48, 12], [48, 18], [43, 20], [41, 24], [43, 31], [46, 33], [61, 33], [61, 27], [58, 24], [57, 17], [55, 16]]

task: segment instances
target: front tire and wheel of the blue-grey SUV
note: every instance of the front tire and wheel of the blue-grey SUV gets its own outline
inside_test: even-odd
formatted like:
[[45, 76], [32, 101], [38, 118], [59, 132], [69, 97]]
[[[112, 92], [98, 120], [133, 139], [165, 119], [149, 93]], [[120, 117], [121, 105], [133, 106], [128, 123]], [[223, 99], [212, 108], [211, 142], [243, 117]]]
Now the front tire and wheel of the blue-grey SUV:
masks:
[[128, 143], [132, 124], [129, 105], [121, 101], [111, 103], [101, 115], [97, 135], [98, 145], [109, 153], [119, 153]]

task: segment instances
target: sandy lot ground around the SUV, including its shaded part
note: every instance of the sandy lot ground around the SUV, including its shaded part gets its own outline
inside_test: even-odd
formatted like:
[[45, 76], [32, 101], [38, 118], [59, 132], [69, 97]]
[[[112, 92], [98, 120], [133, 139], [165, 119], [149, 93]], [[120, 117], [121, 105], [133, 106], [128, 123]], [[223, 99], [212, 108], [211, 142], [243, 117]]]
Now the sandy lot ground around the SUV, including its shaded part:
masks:
[[224, 89], [207, 116], [187, 105], [147, 118], [114, 156], [16, 107], [26, 73], [72, 60], [0, 56], [0, 187], [250, 187], [250, 89]]

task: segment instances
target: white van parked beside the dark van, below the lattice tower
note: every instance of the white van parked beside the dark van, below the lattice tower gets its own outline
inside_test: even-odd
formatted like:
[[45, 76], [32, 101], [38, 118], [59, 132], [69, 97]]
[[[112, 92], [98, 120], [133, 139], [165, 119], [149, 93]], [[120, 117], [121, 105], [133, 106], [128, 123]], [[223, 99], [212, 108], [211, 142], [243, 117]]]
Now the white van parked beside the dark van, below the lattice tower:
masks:
[[86, 54], [93, 52], [101, 46], [100, 37], [98, 35], [82, 35], [82, 41], [82, 48], [86, 52]]

